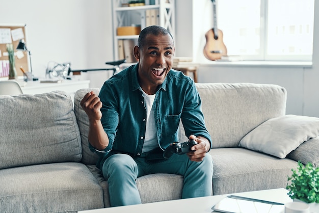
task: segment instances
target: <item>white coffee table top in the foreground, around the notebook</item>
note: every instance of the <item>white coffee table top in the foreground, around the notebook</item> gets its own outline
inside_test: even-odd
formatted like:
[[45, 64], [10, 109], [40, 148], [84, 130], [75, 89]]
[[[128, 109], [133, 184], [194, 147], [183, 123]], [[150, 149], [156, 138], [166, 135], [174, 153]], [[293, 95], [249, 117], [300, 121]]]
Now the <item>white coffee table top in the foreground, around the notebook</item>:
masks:
[[[249, 197], [259, 200], [267, 200], [278, 203], [287, 203], [292, 200], [285, 189], [262, 190], [254, 192], [235, 193], [233, 195]], [[212, 212], [211, 207], [227, 195], [170, 200], [139, 205], [128, 205], [111, 208], [78, 211], [79, 213], [204, 213]]]

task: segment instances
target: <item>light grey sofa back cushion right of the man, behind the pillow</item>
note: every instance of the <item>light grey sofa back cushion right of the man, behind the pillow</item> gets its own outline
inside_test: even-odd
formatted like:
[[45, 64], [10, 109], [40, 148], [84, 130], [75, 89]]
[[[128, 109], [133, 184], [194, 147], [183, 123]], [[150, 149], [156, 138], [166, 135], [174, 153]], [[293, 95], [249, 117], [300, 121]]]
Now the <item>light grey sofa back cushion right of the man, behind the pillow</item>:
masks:
[[212, 148], [237, 147], [264, 121], [285, 115], [286, 90], [277, 85], [197, 83]]

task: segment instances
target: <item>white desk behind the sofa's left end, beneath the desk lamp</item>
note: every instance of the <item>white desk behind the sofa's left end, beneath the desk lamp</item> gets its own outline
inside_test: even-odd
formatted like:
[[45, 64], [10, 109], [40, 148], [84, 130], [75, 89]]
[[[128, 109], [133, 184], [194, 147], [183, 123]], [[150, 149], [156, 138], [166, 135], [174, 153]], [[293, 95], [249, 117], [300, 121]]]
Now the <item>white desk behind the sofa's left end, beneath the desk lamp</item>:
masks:
[[83, 88], [89, 88], [90, 81], [77, 81], [77, 80], [64, 80], [61, 83], [40, 83], [40, 81], [27, 82], [25, 85], [21, 85], [22, 92], [24, 94], [39, 94], [47, 93], [56, 90], [67, 92], [71, 95], [72, 99], [77, 90]]

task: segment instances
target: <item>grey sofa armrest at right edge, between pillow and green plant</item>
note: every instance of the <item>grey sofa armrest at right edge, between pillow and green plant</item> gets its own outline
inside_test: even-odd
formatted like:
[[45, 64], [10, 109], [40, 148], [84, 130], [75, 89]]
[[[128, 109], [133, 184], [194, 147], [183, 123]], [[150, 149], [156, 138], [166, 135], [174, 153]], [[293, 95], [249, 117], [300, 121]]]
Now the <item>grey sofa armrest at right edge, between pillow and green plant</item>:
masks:
[[291, 151], [287, 158], [301, 161], [303, 164], [310, 162], [313, 166], [319, 166], [319, 136], [302, 143], [297, 149]]

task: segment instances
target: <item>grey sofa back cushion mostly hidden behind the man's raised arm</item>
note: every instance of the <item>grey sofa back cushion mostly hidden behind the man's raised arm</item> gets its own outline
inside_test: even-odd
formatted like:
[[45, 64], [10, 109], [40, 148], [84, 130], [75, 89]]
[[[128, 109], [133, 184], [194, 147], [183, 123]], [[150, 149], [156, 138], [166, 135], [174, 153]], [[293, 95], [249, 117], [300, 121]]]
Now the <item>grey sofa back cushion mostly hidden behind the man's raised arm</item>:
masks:
[[85, 88], [76, 91], [74, 95], [74, 112], [77, 119], [77, 124], [80, 129], [81, 142], [82, 142], [82, 162], [84, 164], [95, 165], [98, 160], [98, 155], [92, 152], [89, 148], [89, 118], [83, 108], [80, 105], [81, 100], [84, 95], [90, 91], [93, 91], [95, 94], [99, 94], [100, 89], [98, 88]]

